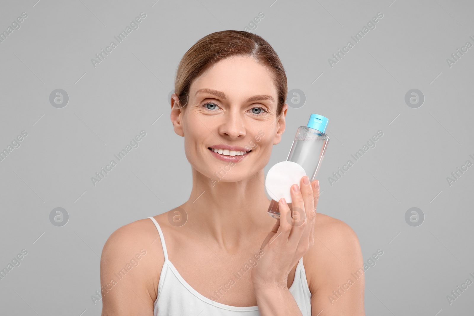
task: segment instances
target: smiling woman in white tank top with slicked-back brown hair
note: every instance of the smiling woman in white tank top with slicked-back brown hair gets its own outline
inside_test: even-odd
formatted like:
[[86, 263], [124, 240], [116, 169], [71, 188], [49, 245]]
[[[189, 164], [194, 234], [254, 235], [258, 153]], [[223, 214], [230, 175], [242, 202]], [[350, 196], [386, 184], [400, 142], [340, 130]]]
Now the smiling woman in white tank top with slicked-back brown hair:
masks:
[[103, 316], [365, 315], [364, 276], [352, 277], [363, 264], [357, 236], [316, 214], [319, 181], [293, 185], [300, 212], [284, 199], [281, 219], [266, 212], [264, 167], [285, 130], [286, 93], [283, 65], [260, 36], [215, 32], [184, 54], [170, 117], [191, 195], [109, 237]]

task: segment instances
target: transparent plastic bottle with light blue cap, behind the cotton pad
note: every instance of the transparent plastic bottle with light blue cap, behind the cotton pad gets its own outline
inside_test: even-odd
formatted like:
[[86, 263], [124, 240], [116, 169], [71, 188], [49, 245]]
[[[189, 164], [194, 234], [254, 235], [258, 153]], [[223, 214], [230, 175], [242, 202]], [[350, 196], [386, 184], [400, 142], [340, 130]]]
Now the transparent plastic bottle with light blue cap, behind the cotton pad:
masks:
[[[322, 115], [311, 114], [308, 124], [298, 127], [292, 148], [286, 159], [286, 161], [292, 161], [301, 165], [306, 175], [310, 178], [310, 182], [316, 179], [324, 153], [326, 148], [328, 148], [329, 136], [324, 133], [326, 126], [328, 126], [328, 121], [328, 118]], [[297, 184], [300, 185], [300, 183]], [[290, 209], [292, 208], [291, 204], [288, 203]], [[272, 199], [267, 212], [273, 218], [280, 218], [278, 201]]]

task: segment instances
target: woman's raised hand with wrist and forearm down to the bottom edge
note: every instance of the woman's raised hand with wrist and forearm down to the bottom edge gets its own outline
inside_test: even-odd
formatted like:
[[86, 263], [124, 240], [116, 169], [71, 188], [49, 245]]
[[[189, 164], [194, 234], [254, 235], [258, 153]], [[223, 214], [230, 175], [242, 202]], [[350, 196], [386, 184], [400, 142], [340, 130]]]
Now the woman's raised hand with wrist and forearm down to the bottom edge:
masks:
[[264, 258], [252, 268], [251, 279], [262, 316], [302, 315], [287, 287], [288, 274], [314, 244], [319, 181], [310, 183], [309, 177], [304, 176], [300, 186], [292, 185], [290, 193], [292, 208], [284, 198], [279, 200], [280, 217], [260, 247]]

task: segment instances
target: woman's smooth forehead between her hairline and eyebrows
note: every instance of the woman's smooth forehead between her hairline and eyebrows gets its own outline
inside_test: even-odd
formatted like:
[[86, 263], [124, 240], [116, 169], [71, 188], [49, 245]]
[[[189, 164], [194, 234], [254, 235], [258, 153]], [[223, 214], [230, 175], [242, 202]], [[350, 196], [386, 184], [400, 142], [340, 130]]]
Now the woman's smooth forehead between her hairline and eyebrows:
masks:
[[250, 57], [226, 58], [214, 64], [191, 84], [191, 98], [200, 97], [196, 92], [201, 89], [219, 90], [229, 98], [268, 94], [277, 99], [271, 70]]

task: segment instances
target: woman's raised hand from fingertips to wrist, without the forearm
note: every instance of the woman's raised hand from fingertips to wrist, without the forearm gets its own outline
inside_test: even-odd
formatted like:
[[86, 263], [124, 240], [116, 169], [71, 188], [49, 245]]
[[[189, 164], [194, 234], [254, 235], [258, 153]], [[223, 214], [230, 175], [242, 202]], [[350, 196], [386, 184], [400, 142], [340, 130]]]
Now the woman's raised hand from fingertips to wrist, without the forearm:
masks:
[[319, 181], [310, 184], [308, 176], [304, 176], [300, 187], [293, 184], [290, 191], [291, 209], [284, 198], [278, 201], [280, 219], [260, 247], [264, 250], [262, 258], [252, 268], [255, 289], [287, 289], [288, 274], [314, 244]]

